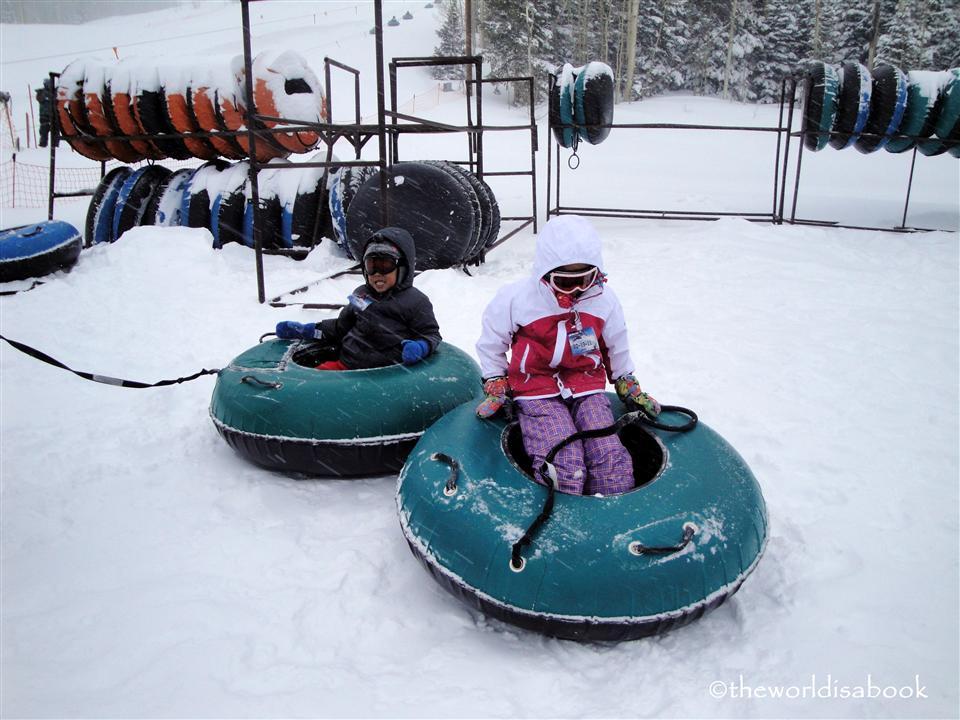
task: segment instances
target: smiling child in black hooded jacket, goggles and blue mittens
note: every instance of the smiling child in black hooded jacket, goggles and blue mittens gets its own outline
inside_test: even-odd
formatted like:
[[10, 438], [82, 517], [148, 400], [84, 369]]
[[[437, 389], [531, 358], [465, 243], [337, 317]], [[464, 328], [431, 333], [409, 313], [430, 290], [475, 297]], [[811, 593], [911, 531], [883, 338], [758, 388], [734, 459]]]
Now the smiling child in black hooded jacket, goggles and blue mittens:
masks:
[[436, 350], [440, 328], [430, 299], [413, 287], [416, 246], [402, 228], [376, 232], [364, 247], [366, 282], [338, 317], [318, 323], [285, 320], [277, 337], [317, 339], [339, 348], [339, 359], [318, 367], [358, 370], [420, 362]]

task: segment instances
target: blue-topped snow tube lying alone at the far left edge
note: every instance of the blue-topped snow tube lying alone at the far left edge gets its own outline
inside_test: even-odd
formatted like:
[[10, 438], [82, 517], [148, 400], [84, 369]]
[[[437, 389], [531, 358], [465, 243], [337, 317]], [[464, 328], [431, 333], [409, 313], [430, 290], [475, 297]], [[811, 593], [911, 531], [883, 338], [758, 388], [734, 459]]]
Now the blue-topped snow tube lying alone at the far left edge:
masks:
[[50, 220], [0, 231], [0, 282], [49, 275], [72, 267], [83, 241], [73, 225]]

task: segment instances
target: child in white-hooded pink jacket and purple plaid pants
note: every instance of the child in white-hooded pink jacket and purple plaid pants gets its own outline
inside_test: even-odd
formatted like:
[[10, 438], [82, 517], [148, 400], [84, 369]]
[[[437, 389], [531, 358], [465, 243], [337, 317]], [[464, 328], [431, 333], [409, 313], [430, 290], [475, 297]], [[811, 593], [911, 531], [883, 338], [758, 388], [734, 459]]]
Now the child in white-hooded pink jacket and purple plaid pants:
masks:
[[[623, 308], [605, 282], [593, 226], [561, 215], [537, 239], [533, 275], [502, 288], [483, 313], [477, 354], [486, 398], [477, 415], [491, 417], [512, 395], [535, 468], [564, 438], [613, 423], [608, 380], [624, 402], [660, 412], [633, 376]], [[611, 495], [634, 485], [630, 454], [616, 435], [571, 443], [554, 466], [561, 492]]]

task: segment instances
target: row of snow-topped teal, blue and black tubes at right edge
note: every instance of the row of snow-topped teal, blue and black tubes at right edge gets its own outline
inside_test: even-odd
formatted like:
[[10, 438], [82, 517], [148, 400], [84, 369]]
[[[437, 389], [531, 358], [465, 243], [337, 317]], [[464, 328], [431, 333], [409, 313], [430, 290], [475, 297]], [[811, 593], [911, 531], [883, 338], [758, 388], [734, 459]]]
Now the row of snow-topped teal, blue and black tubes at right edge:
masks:
[[858, 62], [839, 68], [807, 61], [797, 71], [803, 94], [803, 142], [862, 153], [885, 148], [960, 157], [960, 68], [902, 72]]

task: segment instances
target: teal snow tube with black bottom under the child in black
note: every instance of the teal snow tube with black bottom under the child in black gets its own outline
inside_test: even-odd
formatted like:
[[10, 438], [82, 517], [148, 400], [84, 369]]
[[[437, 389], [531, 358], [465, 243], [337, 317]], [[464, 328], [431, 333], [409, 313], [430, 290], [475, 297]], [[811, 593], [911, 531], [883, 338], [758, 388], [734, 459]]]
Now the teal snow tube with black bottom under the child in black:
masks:
[[268, 340], [221, 370], [210, 417], [227, 443], [273, 470], [326, 477], [395, 473], [445, 412], [476, 401], [480, 369], [441, 343], [416, 365], [316, 370], [319, 343]]

